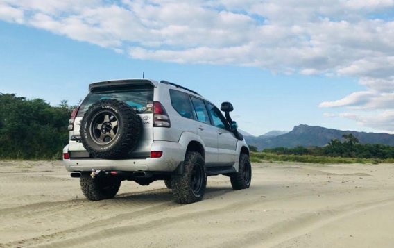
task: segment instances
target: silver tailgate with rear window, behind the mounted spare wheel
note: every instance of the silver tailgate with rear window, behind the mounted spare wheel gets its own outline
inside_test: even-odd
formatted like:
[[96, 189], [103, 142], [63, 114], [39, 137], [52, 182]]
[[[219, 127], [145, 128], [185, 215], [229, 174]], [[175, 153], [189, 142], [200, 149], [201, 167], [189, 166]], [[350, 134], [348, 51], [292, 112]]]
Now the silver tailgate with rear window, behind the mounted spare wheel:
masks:
[[[128, 104], [133, 108], [142, 120], [142, 137], [137, 147], [132, 151], [132, 157], [149, 157], [151, 155], [151, 145], [153, 142], [153, 85], [123, 85], [123, 86], [106, 86], [103, 88], [94, 88], [83, 100], [76, 119], [74, 121], [74, 130], [71, 135], [80, 135], [80, 122], [87, 109], [92, 104], [103, 99], [117, 99]], [[69, 151], [71, 156], [76, 151], [86, 151], [80, 142], [69, 142]], [[79, 152], [78, 154], [83, 154]], [[89, 156], [86, 154], [85, 156]]]

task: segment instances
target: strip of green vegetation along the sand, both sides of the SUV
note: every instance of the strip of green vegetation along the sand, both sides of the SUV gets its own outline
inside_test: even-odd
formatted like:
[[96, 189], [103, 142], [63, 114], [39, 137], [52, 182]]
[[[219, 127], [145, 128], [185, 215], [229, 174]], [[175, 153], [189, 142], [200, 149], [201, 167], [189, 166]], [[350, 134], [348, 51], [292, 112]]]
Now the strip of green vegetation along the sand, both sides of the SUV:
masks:
[[[69, 140], [67, 121], [73, 109], [67, 101], [51, 106], [43, 99], [0, 94], [0, 159], [61, 159]], [[394, 147], [359, 144], [352, 134], [325, 147], [279, 147], [257, 152], [250, 146], [250, 150], [254, 151], [252, 162], [394, 163]]]

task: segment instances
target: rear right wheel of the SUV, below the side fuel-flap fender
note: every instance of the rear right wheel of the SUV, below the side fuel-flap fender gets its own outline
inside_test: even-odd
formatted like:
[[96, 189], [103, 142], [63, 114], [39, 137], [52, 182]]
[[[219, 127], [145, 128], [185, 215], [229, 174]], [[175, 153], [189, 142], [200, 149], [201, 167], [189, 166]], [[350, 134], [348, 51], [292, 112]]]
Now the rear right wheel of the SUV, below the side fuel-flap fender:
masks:
[[207, 187], [205, 161], [198, 152], [188, 152], [185, 156], [184, 171], [171, 177], [173, 197], [180, 204], [201, 201]]

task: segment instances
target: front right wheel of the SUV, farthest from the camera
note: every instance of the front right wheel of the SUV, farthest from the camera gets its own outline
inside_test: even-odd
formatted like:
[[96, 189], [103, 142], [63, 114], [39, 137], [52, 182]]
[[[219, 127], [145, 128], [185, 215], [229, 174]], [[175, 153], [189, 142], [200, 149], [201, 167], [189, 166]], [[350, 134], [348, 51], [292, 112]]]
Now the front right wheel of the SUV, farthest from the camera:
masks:
[[248, 154], [239, 157], [239, 171], [230, 176], [231, 185], [234, 190], [243, 190], [250, 187], [252, 181], [252, 165]]

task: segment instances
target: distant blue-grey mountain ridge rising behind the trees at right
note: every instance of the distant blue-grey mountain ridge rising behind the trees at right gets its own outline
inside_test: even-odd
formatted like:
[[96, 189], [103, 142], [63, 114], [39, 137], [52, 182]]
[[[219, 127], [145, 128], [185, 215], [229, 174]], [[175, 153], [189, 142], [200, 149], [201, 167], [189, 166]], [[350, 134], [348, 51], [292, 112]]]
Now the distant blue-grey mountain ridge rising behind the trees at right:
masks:
[[388, 144], [394, 146], [394, 135], [388, 133], [365, 133], [357, 131], [342, 131], [327, 129], [321, 126], [301, 124], [295, 126], [289, 133], [277, 136], [262, 135], [259, 137], [246, 136], [246, 142], [259, 150], [274, 147], [323, 147], [330, 140], [342, 139], [343, 134], [352, 133], [361, 144]]

